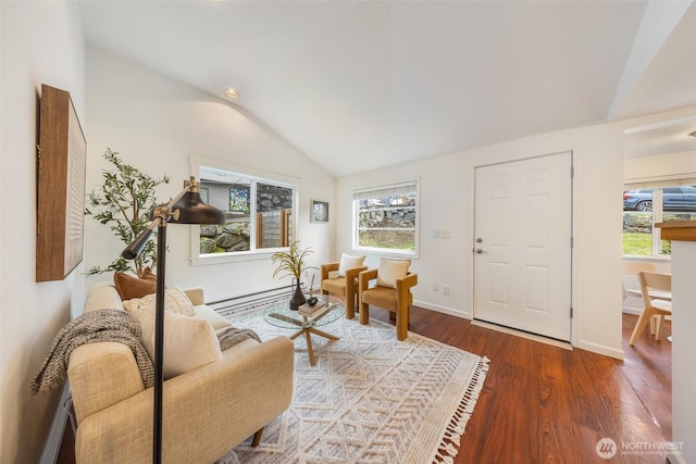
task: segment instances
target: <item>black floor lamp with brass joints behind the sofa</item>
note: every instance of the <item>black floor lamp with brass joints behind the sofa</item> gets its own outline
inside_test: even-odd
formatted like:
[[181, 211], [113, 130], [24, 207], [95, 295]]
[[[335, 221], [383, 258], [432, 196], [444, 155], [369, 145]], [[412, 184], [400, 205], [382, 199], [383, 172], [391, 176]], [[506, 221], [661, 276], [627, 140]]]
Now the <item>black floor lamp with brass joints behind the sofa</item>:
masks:
[[157, 293], [154, 297], [154, 407], [152, 429], [152, 462], [162, 462], [162, 389], [164, 377], [164, 259], [166, 255], [167, 224], [225, 224], [222, 211], [212, 208], [200, 198], [199, 184], [195, 177], [184, 181], [182, 190], [172, 201], [158, 205], [152, 212], [152, 223], [121, 253], [134, 260], [150, 239], [157, 227]]

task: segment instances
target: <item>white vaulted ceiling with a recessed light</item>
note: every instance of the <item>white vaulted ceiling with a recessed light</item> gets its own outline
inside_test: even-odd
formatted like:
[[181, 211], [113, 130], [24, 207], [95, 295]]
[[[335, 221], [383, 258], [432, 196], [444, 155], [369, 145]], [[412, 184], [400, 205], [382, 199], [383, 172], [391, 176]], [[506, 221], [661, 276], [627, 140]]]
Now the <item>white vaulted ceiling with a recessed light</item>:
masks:
[[88, 43], [221, 99], [234, 87], [232, 104], [336, 176], [696, 104], [691, 1], [85, 0], [80, 13]]

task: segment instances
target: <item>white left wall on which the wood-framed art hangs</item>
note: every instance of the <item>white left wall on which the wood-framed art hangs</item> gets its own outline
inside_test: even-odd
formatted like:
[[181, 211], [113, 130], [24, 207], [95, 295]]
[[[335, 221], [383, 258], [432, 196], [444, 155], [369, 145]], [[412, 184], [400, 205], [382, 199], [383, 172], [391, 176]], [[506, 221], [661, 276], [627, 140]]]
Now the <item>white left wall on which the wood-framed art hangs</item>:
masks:
[[71, 305], [82, 305], [84, 281], [78, 266], [35, 283], [38, 99], [42, 83], [70, 91], [86, 127], [84, 38], [74, 2], [0, 2], [0, 462], [36, 463], [60, 390], [32, 398], [29, 384]]

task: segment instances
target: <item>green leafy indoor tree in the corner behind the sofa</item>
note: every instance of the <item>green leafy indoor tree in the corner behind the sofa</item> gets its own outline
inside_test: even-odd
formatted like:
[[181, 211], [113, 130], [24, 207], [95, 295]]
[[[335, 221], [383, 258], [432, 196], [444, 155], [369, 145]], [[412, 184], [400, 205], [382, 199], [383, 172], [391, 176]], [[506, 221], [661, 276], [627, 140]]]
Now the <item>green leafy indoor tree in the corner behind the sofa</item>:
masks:
[[[150, 224], [150, 213], [157, 201], [154, 188], [161, 184], [169, 184], [170, 178], [166, 174], [154, 178], [141, 173], [125, 164], [119, 158], [119, 153], [110, 148], [107, 148], [104, 159], [113, 168], [102, 172], [104, 181], [89, 193], [85, 214], [109, 226], [121, 241], [128, 244]], [[119, 255], [107, 267], [94, 266], [87, 271], [87, 274], [129, 271], [142, 277], [148, 267], [156, 265], [156, 261], [157, 250], [154, 240], [151, 238], [135, 260], [126, 261]]]

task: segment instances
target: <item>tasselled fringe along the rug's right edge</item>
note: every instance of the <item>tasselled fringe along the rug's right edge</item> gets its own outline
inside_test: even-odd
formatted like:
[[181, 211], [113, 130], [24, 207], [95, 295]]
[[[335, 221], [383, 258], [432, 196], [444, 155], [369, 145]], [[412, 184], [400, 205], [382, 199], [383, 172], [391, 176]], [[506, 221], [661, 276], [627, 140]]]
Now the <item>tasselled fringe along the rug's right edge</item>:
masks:
[[480, 358], [476, 365], [472, 381], [467, 387], [457, 410], [452, 414], [452, 418], [447, 424], [443, 438], [437, 447], [433, 463], [435, 464], [455, 464], [455, 456], [459, 452], [461, 437], [464, 435], [467, 423], [474, 411], [476, 400], [483, 389], [486, 373], [488, 372], [488, 363], [490, 360], [486, 356]]

